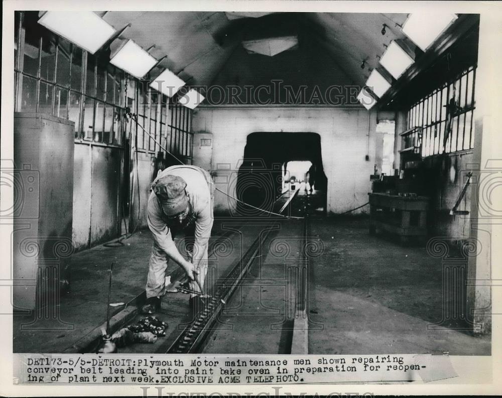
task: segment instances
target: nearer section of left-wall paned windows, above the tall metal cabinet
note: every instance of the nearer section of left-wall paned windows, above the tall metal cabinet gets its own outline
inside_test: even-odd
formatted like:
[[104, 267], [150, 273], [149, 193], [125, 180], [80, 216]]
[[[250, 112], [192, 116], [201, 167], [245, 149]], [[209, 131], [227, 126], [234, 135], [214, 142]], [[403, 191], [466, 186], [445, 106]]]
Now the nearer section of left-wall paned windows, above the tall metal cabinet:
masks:
[[15, 109], [75, 122], [75, 139], [122, 144], [124, 72], [16, 13]]

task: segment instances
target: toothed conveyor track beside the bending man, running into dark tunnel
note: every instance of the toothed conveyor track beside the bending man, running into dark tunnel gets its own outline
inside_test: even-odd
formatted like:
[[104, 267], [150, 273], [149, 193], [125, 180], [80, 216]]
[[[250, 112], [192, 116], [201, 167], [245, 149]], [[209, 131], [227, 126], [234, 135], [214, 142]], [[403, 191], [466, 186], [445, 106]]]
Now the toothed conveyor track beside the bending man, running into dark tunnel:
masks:
[[[298, 194], [298, 189], [288, 199], [286, 204], [281, 208], [283, 212], [289, 206], [293, 198]], [[211, 297], [208, 303], [195, 315], [195, 319], [181, 332], [174, 343], [169, 347], [167, 353], [197, 353], [199, 348], [204, 343], [211, 327], [215, 323], [218, 316], [221, 314], [224, 305], [229, 301], [236, 288], [239, 286], [243, 277], [248, 272], [254, 258], [260, 250], [261, 245], [265, 242], [270, 232], [279, 229], [277, 225], [271, 226], [260, 235], [247, 249], [244, 255], [236, 262], [235, 266], [229, 274], [222, 280], [218, 281], [216, 293]], [[303, 241], [302, 241], [303, 243]]]

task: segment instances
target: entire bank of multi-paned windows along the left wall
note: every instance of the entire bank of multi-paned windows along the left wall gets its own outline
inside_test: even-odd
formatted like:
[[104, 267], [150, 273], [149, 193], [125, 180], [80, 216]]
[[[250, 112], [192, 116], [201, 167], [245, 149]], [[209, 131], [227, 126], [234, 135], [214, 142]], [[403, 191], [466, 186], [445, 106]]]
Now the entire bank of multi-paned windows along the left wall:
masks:
[[[122, 147], [127, 134], [140, 151], [167, 150], [191, 163], [191, 109], [115, 68], [107, 54], [91, 55], [53, 34], [38, 19], [36, 11], [15, 13], [16, 111], [74, 121], [76, 142]], [[126, 107], [136, 117], [126, 118]]]

